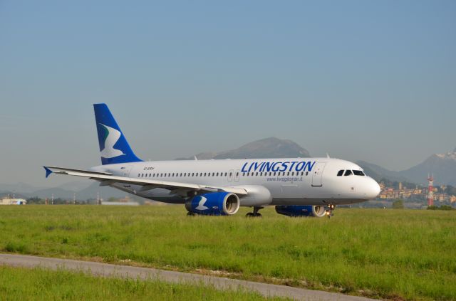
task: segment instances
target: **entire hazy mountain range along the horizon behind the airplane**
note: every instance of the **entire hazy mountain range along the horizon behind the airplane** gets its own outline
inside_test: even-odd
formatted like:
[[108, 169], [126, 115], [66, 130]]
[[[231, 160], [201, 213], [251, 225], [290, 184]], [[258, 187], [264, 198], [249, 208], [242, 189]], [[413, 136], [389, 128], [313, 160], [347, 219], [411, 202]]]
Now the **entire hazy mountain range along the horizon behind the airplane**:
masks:
[[[178, 159], [244, 159], [244, 158], [297, 158], [311, 157], [309, 152], [295, 142], [286, 139], [269, 137], [243, 145], [237, 149], [224, 152], [202, 152], [195, 156]], [[456, 149], [446, 154], [432, 154], [424, 162], [403, 171], [390, 171], [376, 164], [359, 161], [356, 162], [373, 179], [380, 181], [408, 181], [411, 183], [425, 184], [427, 174], [434, 174], [438, 184], [456, 186]], [[42, 199], [54, 198], [96, 199], [97, 194], [103, 199], [109, 197], [123, 197], [125, 192], [110, 187], [100, 187], [98, 182], [71, 182], [53, 188], [34, 187], [25, 183], [0, 184], [0, 196], [15, 194], [16, 197], [29, 198], [38, 196]]]

